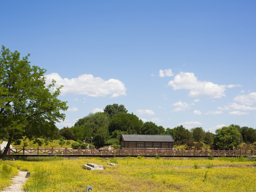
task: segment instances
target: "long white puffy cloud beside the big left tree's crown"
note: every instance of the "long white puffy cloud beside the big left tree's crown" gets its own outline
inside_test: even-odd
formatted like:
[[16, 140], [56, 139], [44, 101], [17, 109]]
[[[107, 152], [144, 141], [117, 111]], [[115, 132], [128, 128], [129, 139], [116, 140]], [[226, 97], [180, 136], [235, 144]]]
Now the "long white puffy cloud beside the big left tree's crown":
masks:
[[46, 75], [46, 84], [50, 84], [52, 79], [57, 83], [56, 86], [63, 85], [61, 94], [88, 95], [90, 97], [118, 97], [126, 95], [124, 84], [118, 79], [103, 80], [100, 77], [83, 74], [77, 78], [61, 78], [58, 73]]

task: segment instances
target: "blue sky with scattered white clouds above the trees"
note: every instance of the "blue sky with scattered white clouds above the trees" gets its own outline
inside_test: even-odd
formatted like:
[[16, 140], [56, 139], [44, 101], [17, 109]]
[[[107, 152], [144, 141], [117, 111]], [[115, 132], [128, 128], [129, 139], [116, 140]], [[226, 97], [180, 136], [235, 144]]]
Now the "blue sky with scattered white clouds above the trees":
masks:
[[1, 1], [0, 42], [64, 85], [63, 126], [123, 104], [143, 121], [256, 128], [255, 1]]

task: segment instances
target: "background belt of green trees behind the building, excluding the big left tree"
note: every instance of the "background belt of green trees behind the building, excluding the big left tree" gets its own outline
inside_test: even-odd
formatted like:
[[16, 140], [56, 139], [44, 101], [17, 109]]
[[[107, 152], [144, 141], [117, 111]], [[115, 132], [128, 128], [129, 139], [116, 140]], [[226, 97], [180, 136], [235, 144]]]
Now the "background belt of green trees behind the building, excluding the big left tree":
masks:
[[136, 115], [127, 113], [123, 105], [113, 104], [105, 107], [104, 112], [90, 114], [78, 119], [72, 127], [64, 127], [60, 135], [66, 139], [87, 140], [93, 138], [96, 147], [119, 143], [121, 134], [171, 134], [177, 145], [204, 142], [213, 148], [233, 149], [241, 142], [256, 141], [256, 130], [251, 127], [230, 125], [216, 130], [216, 134], [205, 132], [202, 127], [191, 130], [182, 125], [164, 129], [153, 122], [143, 123]]

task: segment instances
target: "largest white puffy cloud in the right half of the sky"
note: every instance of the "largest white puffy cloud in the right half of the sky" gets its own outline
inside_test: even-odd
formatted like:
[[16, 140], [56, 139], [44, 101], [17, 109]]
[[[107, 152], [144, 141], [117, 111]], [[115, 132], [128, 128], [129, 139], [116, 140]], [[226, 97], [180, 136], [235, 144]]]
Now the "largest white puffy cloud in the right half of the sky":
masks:
[[198, 81], [194, 73], [180, 72], [176, 75], [173, 81], [168, 83], [173, 90], [187, 89], [189, 97], [207, 97], [207, 98], [221, 98], [225, 97], [227, 87], [235, 87], [240, 85], [218, 85], [212, 82]]

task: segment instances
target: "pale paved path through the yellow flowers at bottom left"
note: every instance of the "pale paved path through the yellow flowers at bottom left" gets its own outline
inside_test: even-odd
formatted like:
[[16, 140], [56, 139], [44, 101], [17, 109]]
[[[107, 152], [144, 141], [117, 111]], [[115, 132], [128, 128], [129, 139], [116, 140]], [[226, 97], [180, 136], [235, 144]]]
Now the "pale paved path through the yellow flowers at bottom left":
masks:
[[11, 179], [11, 186], [6, 187], [2, 192], [22, 192], [22, 185], [26, 182], [27, 171], [20, 171], [19, 174]]

